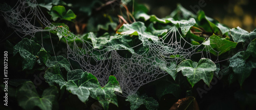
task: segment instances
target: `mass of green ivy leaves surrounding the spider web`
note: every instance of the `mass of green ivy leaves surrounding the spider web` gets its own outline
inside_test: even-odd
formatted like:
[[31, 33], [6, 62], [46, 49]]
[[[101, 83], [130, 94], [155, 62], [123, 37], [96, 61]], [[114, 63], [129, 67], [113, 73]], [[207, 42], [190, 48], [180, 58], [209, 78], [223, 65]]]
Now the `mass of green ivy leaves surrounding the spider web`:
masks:
[[[102, 87], [95, 76], [81, 70], [78, 62], [67, 59], [67, 44], [72, 48], [74, 43], [79, 47], [82, 42], [79, 38], [65, 39], [63, 36], [68, 32], [36, 33], [22, 41], [10, 38], [5, 43], [10, 56], [10, 106], [20, 109], [255, 109], [256, 30], [230, 29], [203, 11], [194, 14], [181, 5], [169, 16], [158, 18], [148, 15], [145, 6], [132, 1], [117, 1], [116, 7], [102, 5], [105, 3], [101, 0], [38, 1], [53, 25], [63, 26], [92, 42], [87, 44], [92, 48], [124, 49], [125, 54], [120, 52], [120, 55], [128, 58], [148, 51], [144, 45], [131, 47], [158, 40], [175, 26], [192, 45], [202, 43], [203, 47], [214, 49], [207, 53], [220, 62], [192, 56], [173, 66], [165, 65], [160, 69], [170, 75], [147, 83], [137, 94], [124, 98], [116, 95], [122, 91], [114, 76]], [[126, 13], [125, 6], [134, 7], [136, 21], [123, 14], [131, 23], [119, 26], [116, 13]], [[78, 21], [87, 24], [83, 34], [75, 31]]]

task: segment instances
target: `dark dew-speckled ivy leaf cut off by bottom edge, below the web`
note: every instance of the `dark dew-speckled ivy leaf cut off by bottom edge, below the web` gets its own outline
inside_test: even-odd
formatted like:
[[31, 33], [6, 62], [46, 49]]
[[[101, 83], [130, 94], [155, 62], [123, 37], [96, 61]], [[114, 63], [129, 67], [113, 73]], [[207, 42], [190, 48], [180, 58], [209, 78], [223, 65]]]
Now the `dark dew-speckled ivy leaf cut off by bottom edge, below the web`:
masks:
[[139, 96], [137, 94], [130, 95], [126, 98], [126, 101], [129, 101], [131, 103], [130, 108], [131, 110], [135, 110], [140, 107], [140, 105], [145, 105], [145, 107], [148, 110], [153, 110], [157, 109], [158, 107], [158, 102], [152, 98], [152, 97], [147, 97], [146, 95]]

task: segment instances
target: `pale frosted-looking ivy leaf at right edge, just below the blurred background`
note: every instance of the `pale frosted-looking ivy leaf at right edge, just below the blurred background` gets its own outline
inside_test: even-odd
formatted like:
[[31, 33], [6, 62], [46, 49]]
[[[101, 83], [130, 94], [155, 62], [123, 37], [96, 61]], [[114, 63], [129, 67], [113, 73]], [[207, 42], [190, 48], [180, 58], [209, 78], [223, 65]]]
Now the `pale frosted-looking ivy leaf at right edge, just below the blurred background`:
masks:
[[246, 40], [251, 41], [256, 38], [256, 29], [252, 32], [247, 32], [240, 27], [232, 28], [230, 34], [234, 42], [245, 42]]

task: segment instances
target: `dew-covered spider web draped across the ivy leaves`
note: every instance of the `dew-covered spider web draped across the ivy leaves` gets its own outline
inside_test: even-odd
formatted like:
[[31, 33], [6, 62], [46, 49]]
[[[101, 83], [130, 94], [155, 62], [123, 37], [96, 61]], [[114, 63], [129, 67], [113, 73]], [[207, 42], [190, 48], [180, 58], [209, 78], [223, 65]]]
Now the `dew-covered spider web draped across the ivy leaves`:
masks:
[[[7, 25], [21, 38], [34, 37], [36, 33], [41, 32], [50, 34], [50, 31], [56, 30], [67, 40], [69, 60], [77, 61], [84, 71], [96, 76], [101, 86], [108, 82], [110, 75], [115, 76], [123, 96], [132, 95], [140, 86], [165, 75], [171, 75], [175, 79], [175, 68], [180, 61], [190, 59], [192, 55], [211, 59], [209, 52], [213, 50], [210, 45], [190, 44], [182, 37], [176, 26], [168, 29], [167, 33], [158, 39], [148, 39], [146, 34], [137, 32], [141, 43], [131, 48], [120, 48], [120, 45], [93, 44], [74, 35], [66, 28], [54, 26], [41, 12], [36, 1], [19, 0], [14, 8], [3, 5], [1, 11]], [[40, 27], [35, 25], [38, 21]], [[77, 39], [82, 42], [76, 42]], [[102, 48], [96, 49], [93, 46]], [[199, 47], [203, 47], [201, 51], [198, 50]], [[131, 51], [135, 48], [142, 48], [144, 51]], [[125, 57], [121, 55], [123, 53], [131, 53], [131, 55]]]

